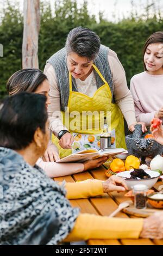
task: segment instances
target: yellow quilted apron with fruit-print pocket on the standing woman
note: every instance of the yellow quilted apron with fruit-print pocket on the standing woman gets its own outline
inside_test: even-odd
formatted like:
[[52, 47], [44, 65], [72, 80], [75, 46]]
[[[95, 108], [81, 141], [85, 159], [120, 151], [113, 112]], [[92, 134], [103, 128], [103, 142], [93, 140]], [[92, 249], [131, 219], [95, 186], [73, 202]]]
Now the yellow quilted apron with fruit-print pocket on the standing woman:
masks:
[[[73, 133], [75, 139], [74, 149], [78, 148], [80, 137], [83, 135], [87, 135], [90, 143], [96, 141], [97, 138], [97, 145], [99, 146], [99, 135], [102, 132], [104, 116], [106, 116], [109, 131], [115, 131], [115, 136], [112, 137], [112, 144], [115, 144], [116, 148], [126, 149], [121, 110], [116, 103], [111, 103], [112, 94], [108, 83], [95, 65], [93, 65], [93, 68], [104, 84], [96, 90], [92, 97], [72, 91], [72, 75], [69, 73], [70, 95], [67, 111], [61, 112], [62, 122]], [[52, 142], [57, 145], [61, 158], [72, 153], [72, 149], [62, 149], [58, 144], [58, 138], [54, 135], [52, 135]], [[85, 144], [86, 147], [92, 147], [92, 145]]]

